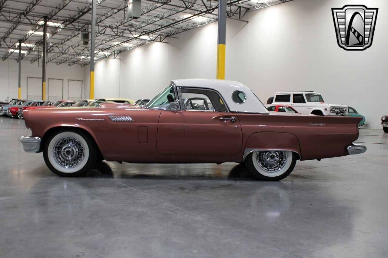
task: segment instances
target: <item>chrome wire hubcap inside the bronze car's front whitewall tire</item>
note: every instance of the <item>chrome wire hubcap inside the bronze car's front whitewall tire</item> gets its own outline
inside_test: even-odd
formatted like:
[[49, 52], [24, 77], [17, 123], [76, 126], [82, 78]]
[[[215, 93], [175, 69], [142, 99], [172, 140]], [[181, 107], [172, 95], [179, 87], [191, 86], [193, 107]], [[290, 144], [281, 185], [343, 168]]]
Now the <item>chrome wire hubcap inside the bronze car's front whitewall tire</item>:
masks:
[[65, 137], [54, 144], [55, 161], [64, 168], [75, 167], [85, 158], [85, 151], [75, 138]]

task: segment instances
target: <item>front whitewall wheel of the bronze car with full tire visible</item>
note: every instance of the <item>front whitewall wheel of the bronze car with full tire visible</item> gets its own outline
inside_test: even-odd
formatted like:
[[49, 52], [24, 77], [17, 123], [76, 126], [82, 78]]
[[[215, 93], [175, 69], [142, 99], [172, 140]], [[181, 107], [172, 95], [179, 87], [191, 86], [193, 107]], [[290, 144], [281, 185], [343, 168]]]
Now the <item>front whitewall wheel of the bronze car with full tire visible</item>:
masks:
[[57, 175], [86, 175], [97, 159], [94, 140], [84, 132], [68, 130], [57, 131], [45, 140], [43, 158], [47, 167]]

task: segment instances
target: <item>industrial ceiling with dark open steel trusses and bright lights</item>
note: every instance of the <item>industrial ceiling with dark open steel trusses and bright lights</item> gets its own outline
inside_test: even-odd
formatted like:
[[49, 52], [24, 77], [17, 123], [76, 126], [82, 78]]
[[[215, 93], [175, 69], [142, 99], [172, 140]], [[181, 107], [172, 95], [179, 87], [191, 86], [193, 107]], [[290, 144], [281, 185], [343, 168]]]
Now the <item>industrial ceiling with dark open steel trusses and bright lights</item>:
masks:
[[[250, 11], [291, 0], [227, 0], [227, 16], [244, 21]], [[91, 0], [0, 0], [0, 55], [42, 62], [43, 17], [47, 17], [47, 62], [87, 65]], [[216, 0], [141, 0], [141, 16], [128, 15], [128, 0], [97, 0], [95, 60], [116, 58], [123, 51], [217, 21]]]

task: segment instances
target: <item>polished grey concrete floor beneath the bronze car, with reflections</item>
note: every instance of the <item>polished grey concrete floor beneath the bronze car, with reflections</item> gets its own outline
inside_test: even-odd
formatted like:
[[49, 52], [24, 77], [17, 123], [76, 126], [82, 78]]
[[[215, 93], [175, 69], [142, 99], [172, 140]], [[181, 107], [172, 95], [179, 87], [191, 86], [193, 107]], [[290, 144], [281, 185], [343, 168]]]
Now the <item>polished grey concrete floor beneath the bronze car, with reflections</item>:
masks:
[[[0, 118], [0, 257], [387, 257], [388, 134], [361, 155], [297, 162], [281, 182], [236, 163], [101, 162], [62, 178]], [[317, 146], [319, 148], [319, 146]]]

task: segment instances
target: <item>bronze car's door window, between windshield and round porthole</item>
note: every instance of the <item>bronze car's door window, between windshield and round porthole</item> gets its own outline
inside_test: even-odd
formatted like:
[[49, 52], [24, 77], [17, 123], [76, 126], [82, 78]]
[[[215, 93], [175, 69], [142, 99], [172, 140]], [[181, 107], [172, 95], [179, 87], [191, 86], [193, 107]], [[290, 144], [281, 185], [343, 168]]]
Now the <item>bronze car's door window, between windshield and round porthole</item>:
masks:
[[180, 88], [185, 110], [227, 112], [220, 95], [216, 91], [201, 88]]

